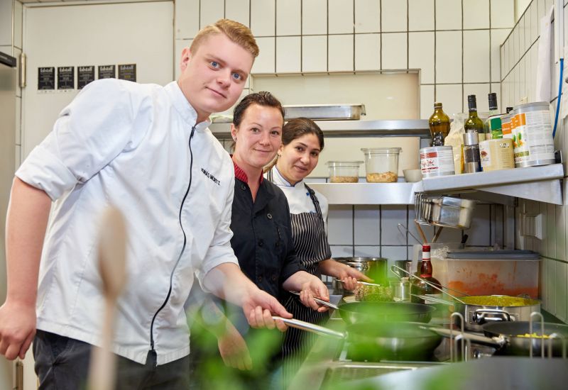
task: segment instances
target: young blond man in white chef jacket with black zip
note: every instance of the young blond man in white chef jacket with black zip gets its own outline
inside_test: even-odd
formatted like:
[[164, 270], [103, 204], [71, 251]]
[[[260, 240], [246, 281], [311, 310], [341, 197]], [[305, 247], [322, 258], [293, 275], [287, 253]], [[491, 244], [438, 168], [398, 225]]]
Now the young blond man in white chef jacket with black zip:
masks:
[[187, 387], [183, 304], [194, 272], [204, 289], [241, 305], [251, 326], [285, 330], [271, 313], [290, 314], [242, 274], [231, 250], [233, 163], [207, 128], [211, 113], [239, 98], [256, 55], [249, 28], [221, 20], [183, 50], [178, 82], [92, 82], [16, 172], [0, 353], [23, 358], [34, 341], [41, 387], [84, 385], [104, 305], [99, 215], [111, 204], [129, 235], [117, 389]]

